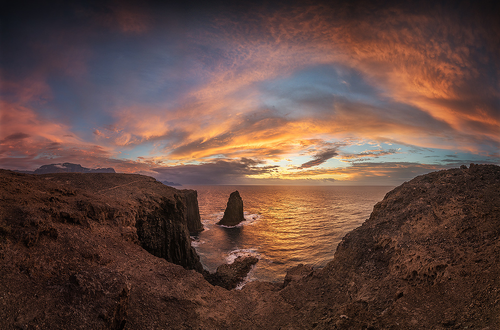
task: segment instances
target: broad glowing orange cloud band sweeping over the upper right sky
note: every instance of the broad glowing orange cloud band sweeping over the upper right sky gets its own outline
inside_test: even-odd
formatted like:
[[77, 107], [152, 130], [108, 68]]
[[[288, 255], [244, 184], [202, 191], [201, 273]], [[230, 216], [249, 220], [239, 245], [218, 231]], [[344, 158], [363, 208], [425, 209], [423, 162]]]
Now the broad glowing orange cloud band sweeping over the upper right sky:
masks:
[[[391, 118], [375, 118], [371, 128], [368, 124], [354, 125], [360, 119], [356, 112], [332, 108], [331, 112], [337, 115], [326, 120], [325, 126], [331, 129], [325, 129], [325, 133], [350, 131], [406, 143], [416, 140], [421, 146], [473, 150], [477, 145], [471, 141], [482, 139], [491, 143], [497, 140], [500, 128], [498, 110], [494, 102], [488, 102], [499, 97], [494, 86], [486, 92], [476, 91], [478, 95], [462, 92], [465, 86], [480, 79], [477, 65], [483, 64], [484, 59], [475, 43], [487, 30], [474, 30], [468, 23], [453, 20], [453, 13], [443, 13], [439, 5], [435, 9], [410, 12], [389, 8], [354, 17], [348, 17], [341, 7], [320, 5], [284, 8], [271, 16], [258, 9], [250, 10], [248, 16], [257, 17], [251, 24], [257, 20], [257, 28], [249, 28], [241, 17], [238, 24], [234, 17], [218, 19], [217, 33], [204, 34], [202, 38], [221, 47], [227, 56], [214, 70], [212, 79], [193, 96], [203, 105], [203, 113], [209, 115], [221, 110], [248, 112], [254, 109], [252, 100], [258, 96], [248, 92], [241, 98], [238, 91], [251, 90], [259, 81], [287, 76], [307, 65], [343, 63], [362, 72], [393, 102], [414, 106], [428, 113], [429, 119], [441, 121], [446, 131], [427, 129], [424, 124], [409, 123], [403, 127]], [[220, 32], [225, 38], [220, 38]], [[482, 101], [473, 101], [481, 95]], [[366, 110], [369, 116], [369, 109]], [[404, 113], [400, 111], [400, 115]], [[411, 129], [406, 130], [407, 127]], [[422, 130], [428, 136], [422, 137]], [[443, 134], [448, 138], [443, 138]], [[463, 137], [456, 139], [457, 136]]]

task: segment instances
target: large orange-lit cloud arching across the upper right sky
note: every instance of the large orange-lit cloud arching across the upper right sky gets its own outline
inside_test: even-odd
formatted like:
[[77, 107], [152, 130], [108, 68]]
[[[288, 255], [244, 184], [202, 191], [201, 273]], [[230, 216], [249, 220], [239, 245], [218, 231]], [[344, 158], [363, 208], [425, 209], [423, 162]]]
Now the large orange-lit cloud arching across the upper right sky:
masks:
[[[467, 150], [482, 145], [475, 143], [476, 139], [489, 138], [488, 144], [492, 142], [499, 127], [497, 106], [494, 105], [498, 104], [499, 93], [491, 90], [491, 86], [498, 85], [498, 78], [484, 68], [494, 65], [488, 60], [495, 58], [497, 50], [488, 48], [489, 52], [484, 54], [477, 46], [482, 44], [482, 37], [492, 39], [488, 35], [489, 27], [485, 27], [487, 24], [482, 25], [472, 16], [462, 24], [462, 19], [455, 19], [461, 11], [448, 11], [441, 4], [426, 6], [425, 10], [414, 6], [373, 11], [355, 8], [353, 14], [350, 9], [341, 4], [332, 7], [298, 5], [269, 14], [261, 8], [253, 8], [253, 11], [249, 8], [247, 15], [252, 16], [252, 20], [246, 20], [244, 14], [243, 18], [238, 17], [238, 24], [230, 16], [217, 19], [220, 33], [203, 37], [206, 43], [220, 47], [227, 56], [219, 58], [221, 69], [195, 95], [211, 103], [211, 95], [227, 98], [235, 90], [259, 81], [276, 77], [292, 79], [296, 70], [311, 63], [332, 66], [340, 63], [362, 74], [368, 86], [377, 86], [374, 98], [385, 97], [385, 104], [373, 106], [376, 103], [373, 100], [375, 103], [368, 101], [371, 102], [369, 107], [358, 101], [361, 104], [358, 107], [352, 99], [338, 104], [341, 95], [334, 97], [328, 88], [324, 89], [328, 85], [317, 88], [318, 84], [310, 92], [307, 88], [312, 85], [288, 86], [280, 94], [274, 93], [275, 99], [282, 100], [284, 95], [292, 100], [301, 95], [301, 103], [308, 104], [308, 108], [337, 113], [329, 120], [314, 111], [318, 121], [326, 119], [325, 126], [332, 128], [328, 132], [338, 132], [338, 126], [353, 130], [353, 133], [371, 134], [372, 138], [375, 134], [383, 137], [385, 134], [381, 132], [387, 132], [385, 137], [390, 134], [389, 137], [406, 142], [422, 139], [418, 143], [421, 146], [430, 142], [432, 146], [441, 144], [442, 147], [457, 146]], [[434, 33], [435, 29], [429, 29], [429, 25], [446, 28]], [[261, 33], [263, 30], [267, 31], [265, 35]], [[470, 30], [478, 34], [472, 35]], [[483, 74], [491, 81], [481, 80]], [[342, 81], [349, 82], [346, 87], [353, 86], [352, 81]], [[474, 94], [464, 93], [466, 86], [481, 86], [482, 90], [474, 87]], [[354, 96], [348, 94], [348, 88], [344, 89], [342, 93]], [[364, 95], [370, 94], [364, 91]], [[364, 111], [357, 110], [359, 108]], [[378, 120], [359, 120], [361, 117]], [[406, 127], [410, 130], [405, 130]], [[467, 128], [469, 136], [462, 137]], [[326, 130], [325, 127], [320, 129]], [[405, 133], [400, 133], [402, 131]], [[454, 144], [454, 137], [462, 141]]]

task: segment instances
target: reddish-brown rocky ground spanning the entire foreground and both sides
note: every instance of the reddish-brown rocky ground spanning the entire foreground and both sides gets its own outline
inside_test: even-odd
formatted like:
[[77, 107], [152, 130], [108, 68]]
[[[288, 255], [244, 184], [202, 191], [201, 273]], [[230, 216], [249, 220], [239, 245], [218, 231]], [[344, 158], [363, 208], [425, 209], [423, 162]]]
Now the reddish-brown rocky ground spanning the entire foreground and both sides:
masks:
[[[212, 286], [140, 246], [133, 221], [159, 216], [152, 205], [181, 209], [174, 189], [156, 194], [140, 175], [109, 174], [124, 175], [110, 184], [83, 174], [0, 174], [9, 191], [0, 192], [0, 328], [500, 328], [496, 165], [405, 182], [323, 269], [298, 266], [286, 286], [256, 281], [241, 290]], [[184, 221], [178, 214], [173, 222]], [[152, 250], [167, 253], [153, 237]]]

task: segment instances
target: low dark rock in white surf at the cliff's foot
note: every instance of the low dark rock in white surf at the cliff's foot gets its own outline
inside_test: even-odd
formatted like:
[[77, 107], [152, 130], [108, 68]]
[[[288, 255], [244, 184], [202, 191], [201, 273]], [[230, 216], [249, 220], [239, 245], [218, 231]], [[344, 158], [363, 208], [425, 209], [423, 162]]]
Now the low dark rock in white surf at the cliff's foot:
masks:
[[215, 272], [204, 277], [210, 284], [230, 290], [243, 280], [257, 261], [253, 255], [238, 256], [232, 263], [221, 264]]

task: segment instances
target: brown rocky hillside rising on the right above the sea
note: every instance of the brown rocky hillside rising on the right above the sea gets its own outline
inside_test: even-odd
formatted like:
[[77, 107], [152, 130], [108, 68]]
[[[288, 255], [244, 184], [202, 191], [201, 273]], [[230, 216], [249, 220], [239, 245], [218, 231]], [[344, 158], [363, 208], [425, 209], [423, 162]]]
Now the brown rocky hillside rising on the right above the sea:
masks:
[[498, 328], [499, 218], [499, 166], [417, 176], [281, 296], [318, 329]]

